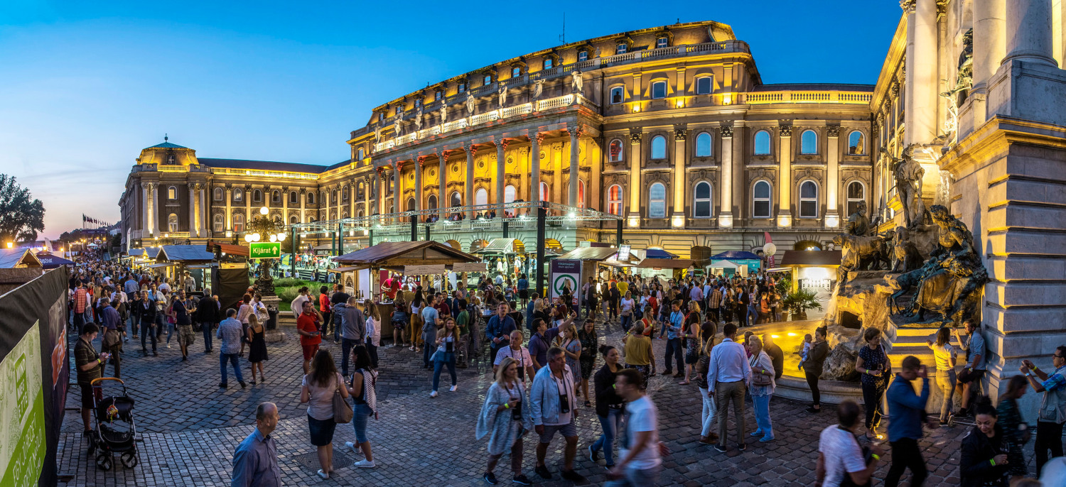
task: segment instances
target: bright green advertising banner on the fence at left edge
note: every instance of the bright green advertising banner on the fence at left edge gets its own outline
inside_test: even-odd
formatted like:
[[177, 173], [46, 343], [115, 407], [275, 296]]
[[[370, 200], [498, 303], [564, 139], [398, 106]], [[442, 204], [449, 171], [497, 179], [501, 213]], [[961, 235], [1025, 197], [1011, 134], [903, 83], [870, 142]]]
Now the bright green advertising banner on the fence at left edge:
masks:
[[37, 485], [45, 459], [39, 322], [0, 361], [0, 486]]

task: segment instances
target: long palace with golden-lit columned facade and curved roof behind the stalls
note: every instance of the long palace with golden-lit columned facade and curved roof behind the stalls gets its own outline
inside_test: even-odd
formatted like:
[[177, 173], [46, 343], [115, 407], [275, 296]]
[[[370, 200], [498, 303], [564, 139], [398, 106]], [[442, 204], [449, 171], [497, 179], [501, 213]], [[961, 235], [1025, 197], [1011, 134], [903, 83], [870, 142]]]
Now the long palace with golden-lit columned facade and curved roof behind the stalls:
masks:
[[[385, 102], [351, 132], [351, 159], [328, 167], [146, 148], [123, 221], [141, 243], [240, 232], [261, 206], [306, 223], [550, 201], [624, 218], [634, 248], [748, 250], [764, 232], [782, 250], [825, 248], [860, 201], [888, 204], [874, 196], [888, 186], [873, 177], [873, 94], [763, 84], [747, 44], [723, 23], [626, 32]], [[581, 228], [564, 246], [613, 241], [613, 227]]]

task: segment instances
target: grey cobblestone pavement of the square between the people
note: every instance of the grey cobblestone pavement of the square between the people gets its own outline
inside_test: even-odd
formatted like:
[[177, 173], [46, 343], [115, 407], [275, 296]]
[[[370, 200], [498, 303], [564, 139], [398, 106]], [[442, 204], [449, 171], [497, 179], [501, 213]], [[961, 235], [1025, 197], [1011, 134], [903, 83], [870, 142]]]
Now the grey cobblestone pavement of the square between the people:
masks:
[[[377, 462], [375, 469], [355, 469], [338, 464], [333, 478], [316, 476], [305, 419], [305, 406], [300, 405], [302, 377], [301, 353], [294, 330], [287, 328], [288, 340], [270, 345], [270, 361], [265, 384], [241, 389], [230, 378], [229, 389], [216, 387], [217, 354], [204, 354], [197, 340], [196, 351], [189, 362], [180, 360], [177, 345], [160, 348], [159, 357], [142, 357], [140, 346], [127, 347], [124, 378], [138, 400], [135, 418], [143, 441], [139, 442], [141, 464], [132, 469], [116, 465], [111, 471], [96, 469], [85, 453], [86, 440], [81, 437], [81, 421], [68, 412], [60, 440], [60, 474], [70, 478], [66, 486], [203, 486], [228, 485], [230, 460], [236, 445], [255, 427], [255, 407], [262, 401], [277, 403], [281, 420], [274, 433], [285, 485], [389, 485], [389, 486], [482, 486], [486, 458], [486, 439], [474, 440], [473, 428], [484, 401], [489, 374], [471, 366], [459, 369], [458, 391], [448, 392], [442, 385], [440, 396], [429, 396], [432, 373], [421, 369], [421, 354], [406, 348], [382, 347], [382, 378], [378, 385], [379, 420], [370, 422], [369, 436]], [[601, 334], [602, 336], [602, 334]], [[617, 331], [605, 338], [618, 342]], [[201, 339], [201, 337], [197, 337]], [[604, 340], [604, 338], [601, 338]], [[132, 344], [132, 340], [127, 345]], [[662, 356], [664, 342], [656, 340], [656, 354]], [[138, 343], [140, 345], [140, 343]], [[335, 355], [339, 345], [323, 344]], [[135, 352], [131, 351], [135, 350]], [[245, 367], [245, 379], [251, 375]], [[110, 368], [109, 368], [110, 372]], [[442, 383], [447, 384], [447, 373]], [[664, 459], [660, 485], [748, 486], [748, 485], [812, 485], [818, 460], [818, 435], [835, 422], [831, 407], [820, 415], [804, 411], [806, 404], [784, 399], [771, 402], [776, 440], [760, 443], [747, 438], [747, 451], [730, 450], [727, 454], [698, 443], [701, 402], [695, 385], [679, 386], [674, 377], [651, 378], [649, 393], [660, 412], [660, 436], [671, 450]], [[68, 407], [77, 406], [78, 391], [71, 389]], [[748, 429], [755, 427], [750, 402], [746, 406]], [[599, 435], [599, 424], [592, 408], [581, 408], [578, 419], [579, 473], [591, 485], [605, 481], [603, 460], [588, 460], [587, 445]], [[731, 429], [731, 428], [730, 428]], [[927, 432], [921, 445], [930, 469], [926, 485], [958, 484], [958, 444], [965, 429], [939, 428]], [[338, 425], [334, 445], [338, 456], [361, 458], [343, 448], [354, 441], [352, 426]], [[732, 441], [732, 439], [730, 439]], [[548, 466], [554, 481], [544, 481], [533, 473], [535, 443], [527, 439], [523, 469], [537, 485], [567, 486], [559, 480], [558, 464], [562, 460], [561, 439], [552, 442]], [[887, 445], [886, 445], [887, 449]], [[1030, 449], [1031, 452], [1031, 449]], [[311, 461], [306, 461], [310, 456]], [[890, 454], [885, 459], [890, 458]], [[1031, 455], [1030, 455], [1031, 456]], [[303, 465], [302, 465], [303, 464]], [[504, 458], [497, 468], [501, 485], [508, 485], [510, 461]], [[1030, 460], [1032, 464], [1032, 460]], [[314, 466], [314, 469], [304, 467]], [[1032, 465], [1030, 470], [1033, 470]], [[881, 484], [887, 472], [884, 464], [875, 475]], [[906, 477], [905, 477], [906, 478]]]

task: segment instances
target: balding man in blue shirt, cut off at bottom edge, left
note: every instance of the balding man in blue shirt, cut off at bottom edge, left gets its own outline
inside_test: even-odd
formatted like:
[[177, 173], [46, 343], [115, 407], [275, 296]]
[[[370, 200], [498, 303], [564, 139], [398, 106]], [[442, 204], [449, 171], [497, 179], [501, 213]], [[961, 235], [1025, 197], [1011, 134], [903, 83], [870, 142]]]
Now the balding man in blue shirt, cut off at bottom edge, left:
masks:
[[277, 427], [277, 406], [262, 403], [256, 408], [256, 428], [233, 452], [230, 487], [280, 487], [277, 444], [270, 434]]

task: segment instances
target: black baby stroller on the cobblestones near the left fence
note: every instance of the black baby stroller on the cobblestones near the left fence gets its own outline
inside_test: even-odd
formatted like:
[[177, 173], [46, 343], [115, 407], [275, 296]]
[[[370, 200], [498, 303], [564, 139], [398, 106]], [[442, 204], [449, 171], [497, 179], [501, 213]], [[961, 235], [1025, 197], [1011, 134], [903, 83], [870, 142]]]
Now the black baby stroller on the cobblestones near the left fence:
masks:
[[[112, 384], [112, 380], [118, 384]], [[114, 392], [122, 387], [122, 394], [106, 395], [108, 386]], [[88, 437], [88, 455], [96, 454], [96, 467], [100, 470], [111, 470], [116, 453], [120, 455], [119, 459], [126, 468], [136, 467], [139, 460], [134, 443], [136, 425], [133, 423], [133, 397], [127, 393], [126, 383], [116, 377], [101, 377], [94, 378], [91, 387], [96, 429]]]

